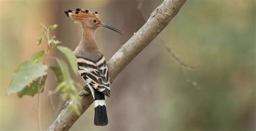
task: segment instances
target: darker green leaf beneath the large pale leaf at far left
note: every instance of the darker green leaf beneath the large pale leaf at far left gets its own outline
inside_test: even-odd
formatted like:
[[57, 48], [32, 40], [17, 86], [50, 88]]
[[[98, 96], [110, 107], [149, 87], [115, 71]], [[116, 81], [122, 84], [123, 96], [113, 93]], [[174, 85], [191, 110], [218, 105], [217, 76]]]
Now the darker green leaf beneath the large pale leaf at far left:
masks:
[[[47, 78], [47, 75], [43, 76], [42, 77], [42, 81], [41, 81], [41, 88], [40, 88], [40, 92], [44, 92], [44, 84], [46, 82], [46, 78]], [[28, 96], [34, 96], [36, 93], [38, 93], [38, 86], [39, 86], [39, 80], [41, 79], [41, 77], [35, 79], [32, 83], [26, 85], [26, 87], [17, 92], [17, 96], [19, 98], [22, 98], [24, 95], [28, 95]]]

